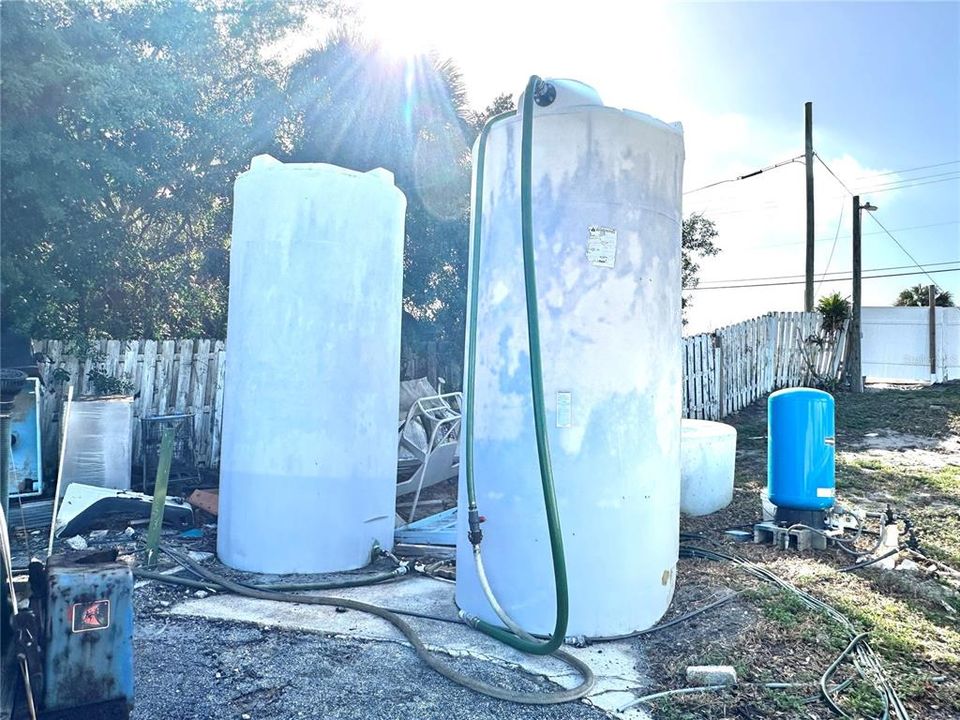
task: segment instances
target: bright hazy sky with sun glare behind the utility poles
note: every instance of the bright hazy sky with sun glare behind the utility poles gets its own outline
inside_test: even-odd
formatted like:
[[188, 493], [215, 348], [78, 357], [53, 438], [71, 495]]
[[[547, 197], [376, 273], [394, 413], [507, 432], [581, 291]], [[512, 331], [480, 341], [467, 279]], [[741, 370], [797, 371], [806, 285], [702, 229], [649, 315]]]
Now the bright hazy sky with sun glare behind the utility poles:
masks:
[[[802, 154], [803, 104], [813, 101], [814, 146], [826, 163], [853, 190], [869, 190], [861, 202], [879, 207], [877, 219], [919, 263], [958, 267], [960, 3], [353, 3], [363, 32], [398, 53], [452, 58], [478, 108], [518, 94], [537, 73], [593, 85], [607, 105], [681, 121], [688, 191]], [[851, 268], [852, 201], [821, 166], [815, 182], [819, 280]], [[722, 253], [702, 263], [704, 287], [802, 275], [802, 164], [687, 194], [684, 204], [720, 233]], [[901, 266], [910, 258], [866, 212], [863, 232], [865, 271], [909, 272]], [[932, 277], [960, 301], [960, 272]], [[865, 280], [864, 304], [889, 305], [920, 282], [930, 279]], [[849, 280], [818, 283], [817, 297], [834, 290], [849, 295]], [[802, 284], [694, 297], [688, 332], [803, 309]]]

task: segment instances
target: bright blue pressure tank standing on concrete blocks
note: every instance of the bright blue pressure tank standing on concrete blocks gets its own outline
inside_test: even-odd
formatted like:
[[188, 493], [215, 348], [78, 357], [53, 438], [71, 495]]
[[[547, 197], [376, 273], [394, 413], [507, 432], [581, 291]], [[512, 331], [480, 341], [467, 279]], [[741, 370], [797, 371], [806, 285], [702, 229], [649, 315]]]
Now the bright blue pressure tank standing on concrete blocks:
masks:
[[823, 511], [833, 506], [833, 396], [787, 388], [767, 401], [767, 493], [778, 509]]

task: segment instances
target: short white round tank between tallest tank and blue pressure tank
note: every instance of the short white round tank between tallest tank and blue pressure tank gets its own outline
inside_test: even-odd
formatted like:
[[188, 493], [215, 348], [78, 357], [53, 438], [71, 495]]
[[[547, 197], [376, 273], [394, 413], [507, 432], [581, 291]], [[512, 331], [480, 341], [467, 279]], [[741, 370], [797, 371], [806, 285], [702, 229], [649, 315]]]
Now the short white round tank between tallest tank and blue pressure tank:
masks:
[[710, 420], [681, 421], [680, 512], [709, 515], [733, 500], [737, 429]]

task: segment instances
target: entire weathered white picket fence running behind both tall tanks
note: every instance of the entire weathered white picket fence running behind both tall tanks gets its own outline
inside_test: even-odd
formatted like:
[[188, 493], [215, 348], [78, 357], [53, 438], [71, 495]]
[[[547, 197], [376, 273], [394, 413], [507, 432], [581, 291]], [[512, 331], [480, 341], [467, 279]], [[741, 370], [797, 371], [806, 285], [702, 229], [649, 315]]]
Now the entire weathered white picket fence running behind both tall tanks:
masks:
[[[778, 388], [827, 383], [839, 378], [846, 326], [825, 333], [817, 313], [770, 313], [763, 317], [684, 338], [683, 409], [691, 418], [718, 420]], [[59, 418], [69, 374], [76, 396], [92, 393], [87, 375], [99, 367], [125, 380], [136, 393], [134, 417], [193, 414], [193, 444], [201, 466], [220, 460], [226, 350], [222, 340], [101, 340], [99, 360], [81, 360], [65, 352], [59, 340], [34, 341], [45, 360], [41, 402], [44, 457], [58, 455]], [[439, 348], [440, 351], [448, 348]], [[403, 377], [444, 376], [446, 389], [459, 387], [461, 368], [436, 343], [424, 354], [405, 355]], [[451, 355], [452, 356], [452, 355]], [[438, 359], [438, 357], [440, 359]], [[446, 375], [444, 375], [446, 373]], [[139, 457], [139, 422], [134, 422], [134, 457]]]

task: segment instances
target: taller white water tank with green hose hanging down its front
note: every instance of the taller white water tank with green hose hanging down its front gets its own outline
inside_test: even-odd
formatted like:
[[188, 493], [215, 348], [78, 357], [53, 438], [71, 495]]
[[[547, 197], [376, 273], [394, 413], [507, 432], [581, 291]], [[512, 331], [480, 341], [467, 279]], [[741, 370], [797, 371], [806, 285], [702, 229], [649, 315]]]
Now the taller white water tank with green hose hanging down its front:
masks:
[[[535, 110], [533, 230], [543, 385], [569, 577], [569, 636], [653, 625], [676, 580], [680, 501], [683, 135], [551, 81]], [[530, 395], [519, 115], [489, 134], [476, 312], [475, 478], [496, 596], [532, 633], [555, 621]], [[476, 148], [474, 167], [476, 167]], [[474, 181], [476, 182], [476, 180]], [[476, 185], [474, 185], [476, 187]], [[469, 339], [468, 339], [469, 342]], [[457, 603], [499, 624], [467, 541]]]

